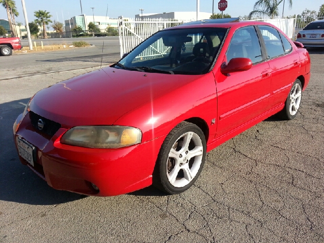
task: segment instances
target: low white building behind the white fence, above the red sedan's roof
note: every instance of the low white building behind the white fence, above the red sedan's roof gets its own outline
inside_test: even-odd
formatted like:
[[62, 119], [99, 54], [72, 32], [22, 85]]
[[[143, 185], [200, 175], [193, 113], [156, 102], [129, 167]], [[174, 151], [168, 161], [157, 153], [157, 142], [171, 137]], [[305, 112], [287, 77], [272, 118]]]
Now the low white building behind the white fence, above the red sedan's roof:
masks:
[[[209, 19], [212, 13], [199, 12], [198, 20]], [[142, 14], [135, 15], [135, 18], [142, 18]], [[144, 14], [143, 19], [177, 19], [177, 20], [196, 20], [197, 12], [170, 12], [163, 14]]]

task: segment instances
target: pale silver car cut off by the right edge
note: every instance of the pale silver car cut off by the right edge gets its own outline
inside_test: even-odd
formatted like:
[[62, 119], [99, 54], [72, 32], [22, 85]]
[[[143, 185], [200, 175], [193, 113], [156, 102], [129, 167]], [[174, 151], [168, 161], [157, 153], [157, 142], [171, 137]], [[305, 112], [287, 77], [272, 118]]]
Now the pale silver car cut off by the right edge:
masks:
[[296, 41], [305, 47], [324, 47], [324, 19], [306, 25], [297, 34]]

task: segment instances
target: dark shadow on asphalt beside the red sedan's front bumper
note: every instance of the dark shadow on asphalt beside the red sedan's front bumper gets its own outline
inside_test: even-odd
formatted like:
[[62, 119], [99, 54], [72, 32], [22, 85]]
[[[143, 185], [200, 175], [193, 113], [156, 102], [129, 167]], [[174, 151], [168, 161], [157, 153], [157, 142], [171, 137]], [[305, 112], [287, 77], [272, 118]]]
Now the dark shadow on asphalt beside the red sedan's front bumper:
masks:
[[13, 124], [29, 99], [0, 104], [0, 200], [29, 205], [56, 205], [83, 195], [51, 188], [20, 163], [13, 140]]

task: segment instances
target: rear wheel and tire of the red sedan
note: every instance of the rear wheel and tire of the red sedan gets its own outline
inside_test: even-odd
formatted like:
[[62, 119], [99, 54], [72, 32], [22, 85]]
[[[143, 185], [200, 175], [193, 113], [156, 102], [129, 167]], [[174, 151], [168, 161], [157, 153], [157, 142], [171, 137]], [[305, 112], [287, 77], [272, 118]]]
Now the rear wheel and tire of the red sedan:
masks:
[[291, 120], [296, 117], [302, 100], [302, 90], [302, 83], [299, 79], [296, 79], [286, 99], [284, 109], [278, 113], [280, 118]]

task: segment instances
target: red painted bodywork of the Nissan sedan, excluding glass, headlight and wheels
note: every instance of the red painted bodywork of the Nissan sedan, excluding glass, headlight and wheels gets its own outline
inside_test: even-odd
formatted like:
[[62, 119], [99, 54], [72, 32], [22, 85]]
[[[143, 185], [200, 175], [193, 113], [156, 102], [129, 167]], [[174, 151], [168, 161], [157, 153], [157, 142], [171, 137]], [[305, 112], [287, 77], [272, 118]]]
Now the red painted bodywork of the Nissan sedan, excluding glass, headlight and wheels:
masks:
[[[264, 23], [248, 22], [260, 24]], [[62, 128], [51, 138], [33, 128], [28, 114], [17, 118], [14, 137], [37, 149], [35, 166], [29, 167], [55, 189], [98, 196], [135, 191], [152, 184], [160, 147], [182, 121], [195, 121], [203, 128], [210, 151], [284, 108], [296, 78], [301, 79], [303, 90], [307, 87], [308, 52], [298, 49], [286, 35], [293, 46], [290, 54], [264, 60], [248, 71], [222, 74], [230, 37], [247, 23], [204, 25], [215, 26], [230, 29], [213, 70], [206, 74], [171, 75], [106, 67], [39, 91], [30, 102], [30, 110], [55, 120]], [[87, 125], [135, 127], [142, 131], [142, 141], [118, 149], [60, 142], [68, 129]]]

